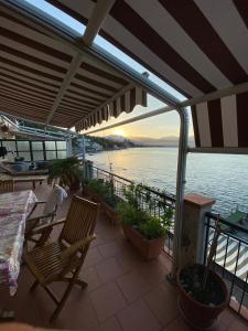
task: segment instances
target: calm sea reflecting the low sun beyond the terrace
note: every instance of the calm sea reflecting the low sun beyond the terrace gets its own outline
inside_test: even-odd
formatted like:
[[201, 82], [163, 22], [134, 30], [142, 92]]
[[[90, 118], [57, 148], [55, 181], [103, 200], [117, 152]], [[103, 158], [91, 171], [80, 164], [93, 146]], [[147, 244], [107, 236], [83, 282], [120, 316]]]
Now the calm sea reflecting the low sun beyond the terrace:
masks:
[[[132, 148], [87, 156], [101, 169], [175, 193], [176, 148]], [[186, 192], [216, 199], [226, 213], [237, 204], [248, 209], [248, 156], [188, 153]]]

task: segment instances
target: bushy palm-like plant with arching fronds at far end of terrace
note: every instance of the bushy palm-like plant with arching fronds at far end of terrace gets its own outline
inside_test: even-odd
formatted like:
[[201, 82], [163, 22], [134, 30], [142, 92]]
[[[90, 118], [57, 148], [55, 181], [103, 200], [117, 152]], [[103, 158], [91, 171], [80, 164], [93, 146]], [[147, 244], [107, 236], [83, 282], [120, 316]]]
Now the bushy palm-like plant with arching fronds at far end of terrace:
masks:
[[55, 160], [48, 167], [48, 181], [60, 180], [60, 184], [78, 190], [83, 179], [82, 161], [76, 157]]

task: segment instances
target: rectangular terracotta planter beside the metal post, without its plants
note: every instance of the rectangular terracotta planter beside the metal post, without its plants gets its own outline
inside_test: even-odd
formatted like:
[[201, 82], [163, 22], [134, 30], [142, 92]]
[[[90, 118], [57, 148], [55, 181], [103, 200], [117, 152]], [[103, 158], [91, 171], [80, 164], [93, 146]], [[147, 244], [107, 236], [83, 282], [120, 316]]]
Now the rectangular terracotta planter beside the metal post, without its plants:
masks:
[[133, 227], [121, 224], [125, 236], [139, 250], [140, 255], [149, 260], [158, 257], [162, 253], [164, 245], [163, 238], [147, 239]]

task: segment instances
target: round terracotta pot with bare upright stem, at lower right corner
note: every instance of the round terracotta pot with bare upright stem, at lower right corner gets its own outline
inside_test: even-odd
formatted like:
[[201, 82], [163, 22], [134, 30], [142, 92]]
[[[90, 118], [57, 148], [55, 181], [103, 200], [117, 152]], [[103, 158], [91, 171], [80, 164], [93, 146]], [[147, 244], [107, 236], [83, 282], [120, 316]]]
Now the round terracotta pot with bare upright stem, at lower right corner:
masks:
[[211, 268], [219, 234], [217, 220], [206, 266], [194, 264], [177, 273], [180, 311], [187, 323], [198, 330], [213, 328], [229, 300], [225, 281]]

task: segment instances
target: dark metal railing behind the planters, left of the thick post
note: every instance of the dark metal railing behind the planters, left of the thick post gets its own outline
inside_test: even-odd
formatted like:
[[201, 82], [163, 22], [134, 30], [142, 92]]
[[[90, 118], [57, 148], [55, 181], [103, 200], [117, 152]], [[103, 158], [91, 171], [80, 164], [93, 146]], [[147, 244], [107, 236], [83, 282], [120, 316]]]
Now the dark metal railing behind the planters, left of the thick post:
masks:
[[[87, 172], [87, 177], [101, 179], [105, 182], [110, 183], [112, 186], [112, 194], [115, 196], [125, 200], [123, 191], [130, 185], [136, 184], [139, 186], [139, 196], [137, 196], [139, 202], [139, 207], [147, 211], [152, 216], [162, 217], [166, 209], [171, 207], [175, 210], [175, 197], [172, 194], [159, 192], [158, 190], [143, 185], [137, 184], [133, 181], [130, 181], [126, 178], [117, 175], [112, 172], [99, 169], [95, 166], [91, 166], [90, 174]], [[173, 217], [174, 218], [174, 217]], [[172, 256], [172, 243], [173, 243], [173, 233], [174, 233], [174, 220], [169, 228], [169, 234], [164, 244], [164, 252], [171, 257]]]

